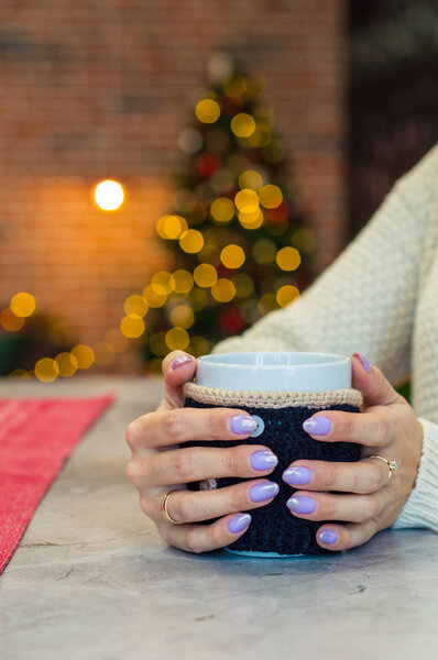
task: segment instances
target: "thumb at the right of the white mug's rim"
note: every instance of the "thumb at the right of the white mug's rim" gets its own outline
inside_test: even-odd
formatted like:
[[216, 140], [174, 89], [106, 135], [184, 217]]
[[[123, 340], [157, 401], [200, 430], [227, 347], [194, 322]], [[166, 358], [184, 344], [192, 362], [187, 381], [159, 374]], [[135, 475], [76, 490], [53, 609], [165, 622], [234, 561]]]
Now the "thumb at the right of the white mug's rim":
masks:
[[398, 399], [398, 394], [381, 370], [370, 364], [361, 353], [351, 356], [352, 387], [363, 394], [365, 407], [388, 406]]

